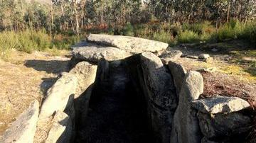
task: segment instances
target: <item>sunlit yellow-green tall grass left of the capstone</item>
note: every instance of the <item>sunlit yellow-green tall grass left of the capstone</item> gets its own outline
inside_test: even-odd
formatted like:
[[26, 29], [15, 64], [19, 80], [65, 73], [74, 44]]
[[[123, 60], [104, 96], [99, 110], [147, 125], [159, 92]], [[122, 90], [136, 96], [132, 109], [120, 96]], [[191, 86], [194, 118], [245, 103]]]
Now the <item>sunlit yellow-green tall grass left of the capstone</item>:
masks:
[[70, 45], [75, 45], [81, 38], [76, 35], [55, 35], [52, 38], [46, 30], [4, 31], [0, 33], [0, 57], [8, 59], [11, 49], [28, 53], [35, 50], [69, 50]]

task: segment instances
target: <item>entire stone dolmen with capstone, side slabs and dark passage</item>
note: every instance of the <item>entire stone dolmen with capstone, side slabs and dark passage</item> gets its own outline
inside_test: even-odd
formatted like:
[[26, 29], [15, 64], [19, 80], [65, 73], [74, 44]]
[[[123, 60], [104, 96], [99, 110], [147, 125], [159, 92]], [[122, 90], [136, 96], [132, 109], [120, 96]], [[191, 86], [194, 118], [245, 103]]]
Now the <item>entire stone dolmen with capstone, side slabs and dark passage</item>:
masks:
[[125, 36], [90, 35], [87, 41], [74, 47], [70, 71], [42, 105], [35, 101], [0, 142], [245, 142], [253, 127], [250, 104], [202, 98], [201, 74], [174, 62], [181, 52]]

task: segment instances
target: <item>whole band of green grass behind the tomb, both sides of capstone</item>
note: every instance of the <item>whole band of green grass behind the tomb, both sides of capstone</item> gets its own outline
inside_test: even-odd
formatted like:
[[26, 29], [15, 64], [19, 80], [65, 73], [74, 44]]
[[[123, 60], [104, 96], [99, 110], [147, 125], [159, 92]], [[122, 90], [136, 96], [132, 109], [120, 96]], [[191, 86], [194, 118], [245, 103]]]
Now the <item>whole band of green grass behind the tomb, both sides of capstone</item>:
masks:
[[[92, 29], [85, 33], [107, 33], [113, 35], [114, 28], [103, 31]], [[127, 25], [119, 27], [119, 33], [121, 35], [167, 42], [169, 45], [192, 42], [223, 42], [225, 40], [245, 40], [252, 46], [256, 45], [256, 21], [241, 23], [233, 20], [220, 25], [219, 28], [215, 28], [208, 21], [193, 24], [183, 23], [183, 25], [178, 23], [166, 25], [161, 23], [137, 25], [127, 23]], [[69, 31], [53, 37], [48, 35], [46, 30], [4, 31], [0, 33], [0, 57], [3, 59], [8, 58], [11, 49], [28, 53], [34, 50], [69, 50], [70, 45], [79, 42], [82, 36], [73, 35]]]

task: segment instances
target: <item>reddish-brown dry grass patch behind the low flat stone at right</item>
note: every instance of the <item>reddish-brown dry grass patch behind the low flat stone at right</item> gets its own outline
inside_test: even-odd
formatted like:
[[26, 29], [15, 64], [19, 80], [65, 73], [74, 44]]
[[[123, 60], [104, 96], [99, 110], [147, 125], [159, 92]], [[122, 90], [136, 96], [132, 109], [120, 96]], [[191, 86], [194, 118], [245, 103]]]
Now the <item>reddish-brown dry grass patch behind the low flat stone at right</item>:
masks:
[[234, 76], [220, 73], [201, 72], [204, 81], [203, 98], [209, 96], [236, 96], [248, 101], [256, 108], [255, 84], [244, 83]]

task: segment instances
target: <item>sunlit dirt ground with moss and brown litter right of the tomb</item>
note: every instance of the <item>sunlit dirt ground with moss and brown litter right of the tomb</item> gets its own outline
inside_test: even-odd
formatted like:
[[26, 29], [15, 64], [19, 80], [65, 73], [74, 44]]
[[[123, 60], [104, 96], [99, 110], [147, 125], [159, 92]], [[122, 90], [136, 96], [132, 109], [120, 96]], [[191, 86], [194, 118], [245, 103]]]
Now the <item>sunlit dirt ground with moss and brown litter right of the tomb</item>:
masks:
[[[202, 98], [209, 96], [237, 96], [249, 101], [256, 108], [256, 50], [243, 50], [238, 43], [210, 45], [218, 47], [218, 52], [202, 50], [195, 45], [181, 45], [172, 49], [181, 50], [186, 57], [179, 58], [188, 71], [201, 72], [204, 80]], [[224, 50], [225, 51], [224, 51]], [[201, 54], [209, 54], [208, 60], [194, 59]]]

